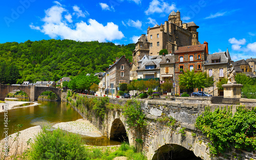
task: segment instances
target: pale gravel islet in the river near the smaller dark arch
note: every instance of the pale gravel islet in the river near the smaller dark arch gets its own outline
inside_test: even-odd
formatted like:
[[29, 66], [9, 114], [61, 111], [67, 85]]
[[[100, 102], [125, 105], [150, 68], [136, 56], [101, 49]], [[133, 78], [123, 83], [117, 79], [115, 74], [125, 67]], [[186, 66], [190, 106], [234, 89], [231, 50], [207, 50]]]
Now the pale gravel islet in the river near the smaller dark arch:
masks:
[[87, 135], [91, 137], [102, 136], [101, 132], [89, 121], [79, 119], [71, 122], [61, 122], [53, 125], [54, 128], [66, 130], [68, 132]]

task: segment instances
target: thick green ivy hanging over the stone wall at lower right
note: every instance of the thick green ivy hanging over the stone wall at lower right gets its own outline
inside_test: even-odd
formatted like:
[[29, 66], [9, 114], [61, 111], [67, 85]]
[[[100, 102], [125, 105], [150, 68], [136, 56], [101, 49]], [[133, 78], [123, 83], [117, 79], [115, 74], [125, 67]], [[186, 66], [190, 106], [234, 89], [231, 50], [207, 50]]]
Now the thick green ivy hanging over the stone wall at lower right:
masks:
[[246, 151], [256, 150], [256, 108], [238, 106], [232, 115], [232, 108], [209, 107], [196, 120], [196, 127], [209, 138], [210, 153], [225, 153], [231, 147]]

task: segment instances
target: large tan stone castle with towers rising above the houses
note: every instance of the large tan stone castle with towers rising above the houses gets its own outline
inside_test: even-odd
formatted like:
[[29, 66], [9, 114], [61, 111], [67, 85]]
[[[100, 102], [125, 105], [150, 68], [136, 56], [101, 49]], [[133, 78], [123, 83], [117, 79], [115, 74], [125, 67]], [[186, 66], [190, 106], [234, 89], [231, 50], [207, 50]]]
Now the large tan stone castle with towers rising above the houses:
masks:
[[180, 11], [172, 11], [164, 25], [148, 26], [147, 36], [141, 35], [133, 51], [133, 63], [138, 66], [138, 61], [144, 55], [156, 56], [162, 49], [174, 53], [177, 47], [200, 44], [198, 28], [199, 26], [193, 21], [183, 23], [180, 19]]

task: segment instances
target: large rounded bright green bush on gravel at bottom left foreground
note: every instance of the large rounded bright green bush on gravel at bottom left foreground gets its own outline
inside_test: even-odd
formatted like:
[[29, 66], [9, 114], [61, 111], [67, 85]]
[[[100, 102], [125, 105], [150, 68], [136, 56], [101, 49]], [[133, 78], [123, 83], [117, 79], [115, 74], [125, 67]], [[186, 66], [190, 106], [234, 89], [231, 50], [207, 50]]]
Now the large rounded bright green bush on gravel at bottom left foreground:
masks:
[[44, 127], [31, 144], [29, 159], [85, 159], [87, 152], [78, 134]]

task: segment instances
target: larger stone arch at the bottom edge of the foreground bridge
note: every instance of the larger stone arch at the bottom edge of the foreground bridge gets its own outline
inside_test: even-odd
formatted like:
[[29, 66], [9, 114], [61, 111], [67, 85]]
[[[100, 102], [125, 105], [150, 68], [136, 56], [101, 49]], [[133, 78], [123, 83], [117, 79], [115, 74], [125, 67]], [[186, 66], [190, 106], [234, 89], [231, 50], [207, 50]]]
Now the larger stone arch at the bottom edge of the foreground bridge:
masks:
[[[181, 128], [177, 128], [176, 132], [172, 132], [169, 129], [163, 129], [155, 138], [151, 141], [150, 147], [146, 154], [148, 159], [156, 159], [159, 153], [164, 153], [168, 156], [169, 151], [176, 149], [176, 153], [187, 152], [187, 154], [195, 154], [199, 159], [209, 159], [209, 153], [206, 145], [198, 141], [195, 136], [192, 136], [192, 132], [186, 131], [185, 135], [178, 134]], [[177, 134], [176, 134], [177, 133]], [[177, 151], [179, 149], [179, 151]], [[189, 152], [190, 151], [190, 152]], [[162, 157], [162, 156], [161, 156]], [[161, 159], [160, 157], [158, 157]], [[165, 159], [167, 159], [165, 157]], [[174, 159], [174, 157], [173, 157]]]

